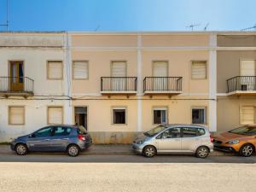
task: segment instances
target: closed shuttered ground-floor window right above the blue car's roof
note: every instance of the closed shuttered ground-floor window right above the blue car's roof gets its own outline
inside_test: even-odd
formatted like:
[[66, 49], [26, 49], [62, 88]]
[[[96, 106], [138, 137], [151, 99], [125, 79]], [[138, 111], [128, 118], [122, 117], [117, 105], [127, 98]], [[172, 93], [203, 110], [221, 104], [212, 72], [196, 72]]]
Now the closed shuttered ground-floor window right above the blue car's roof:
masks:
[[63, 109], [62, 107], [48, 107], [48, 124], [62, 124], [63, 123]]

